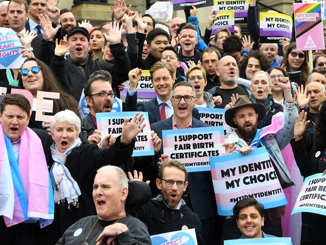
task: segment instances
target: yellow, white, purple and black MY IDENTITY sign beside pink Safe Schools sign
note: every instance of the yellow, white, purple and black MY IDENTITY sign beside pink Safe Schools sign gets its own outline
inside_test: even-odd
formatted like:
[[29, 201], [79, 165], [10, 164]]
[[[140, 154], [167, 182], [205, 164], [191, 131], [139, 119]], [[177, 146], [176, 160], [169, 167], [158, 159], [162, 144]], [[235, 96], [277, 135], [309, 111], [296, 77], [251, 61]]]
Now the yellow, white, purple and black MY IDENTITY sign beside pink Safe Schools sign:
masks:
[[284, 37], [292, 38], [292, 17], [280, 13], [261, 12], [260, 42], [276, 43]]

